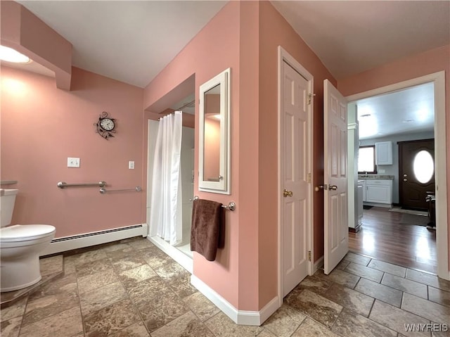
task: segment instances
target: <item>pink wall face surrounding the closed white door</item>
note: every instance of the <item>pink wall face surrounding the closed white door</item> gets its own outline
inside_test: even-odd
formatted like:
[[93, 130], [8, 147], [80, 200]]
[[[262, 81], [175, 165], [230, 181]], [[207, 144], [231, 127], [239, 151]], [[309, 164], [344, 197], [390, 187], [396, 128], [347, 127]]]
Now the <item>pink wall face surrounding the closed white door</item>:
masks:
[[[314, 185], [323, 184], [323, 80], [336, 84], [314, 51], [266, 1], [260, 7], [259, 46], [259, 268], [260, 298], [269, 300], [276, 287], [278, 45], [314, 76]], [[264, 244], [261, 244], [264, 243]], [[314, 260], [323, 256], [323, 193], [314, 193]], [[269, 291], [270, 290], [270, 291]]]

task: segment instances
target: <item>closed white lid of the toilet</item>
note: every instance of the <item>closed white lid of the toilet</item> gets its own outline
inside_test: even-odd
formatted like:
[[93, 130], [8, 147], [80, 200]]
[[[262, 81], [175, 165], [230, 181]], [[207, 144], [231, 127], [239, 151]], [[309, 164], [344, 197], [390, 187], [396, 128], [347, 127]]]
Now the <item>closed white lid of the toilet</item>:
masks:
[[40, 239], [55, 231], [49, 224], [15, 224], [0, 229], [0, 242]]

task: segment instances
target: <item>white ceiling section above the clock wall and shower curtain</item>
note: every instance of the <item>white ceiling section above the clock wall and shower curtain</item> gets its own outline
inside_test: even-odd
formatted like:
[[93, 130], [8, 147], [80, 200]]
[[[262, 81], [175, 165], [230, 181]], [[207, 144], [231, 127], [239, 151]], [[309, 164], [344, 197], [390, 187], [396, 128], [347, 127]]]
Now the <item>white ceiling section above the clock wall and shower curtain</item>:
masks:
[[72, 43], [72, 65], [143, 88], [227, 1], [17, 2]]

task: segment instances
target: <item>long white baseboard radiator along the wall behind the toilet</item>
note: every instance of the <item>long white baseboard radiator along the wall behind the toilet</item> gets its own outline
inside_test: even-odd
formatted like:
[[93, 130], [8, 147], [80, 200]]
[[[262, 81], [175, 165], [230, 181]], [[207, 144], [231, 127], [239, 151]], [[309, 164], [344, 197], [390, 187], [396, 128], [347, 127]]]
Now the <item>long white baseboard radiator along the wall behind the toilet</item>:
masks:
[[90, 247], [117, 240], [132, 238], [134, 236], [146, 237], [148, 234], [147, 224], [136, 224], [127, 227], [105, 229], [104, 231], [92, 231], [90, 233], [64, 236], [51, 241], [49, 246], [40, 256], [62, 253], [72, 249]]

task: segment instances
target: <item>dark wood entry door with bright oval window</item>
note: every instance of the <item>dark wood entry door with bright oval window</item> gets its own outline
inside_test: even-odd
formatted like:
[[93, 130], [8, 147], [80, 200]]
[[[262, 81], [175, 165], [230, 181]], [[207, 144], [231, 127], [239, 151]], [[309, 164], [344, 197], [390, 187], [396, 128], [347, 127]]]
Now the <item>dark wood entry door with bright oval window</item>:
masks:
[[[435, 139], [399, 141], [399, 198], [402, 208], [428, 209], [435, 191]], [[431, 165], [431, 166], [430, 166]]]

